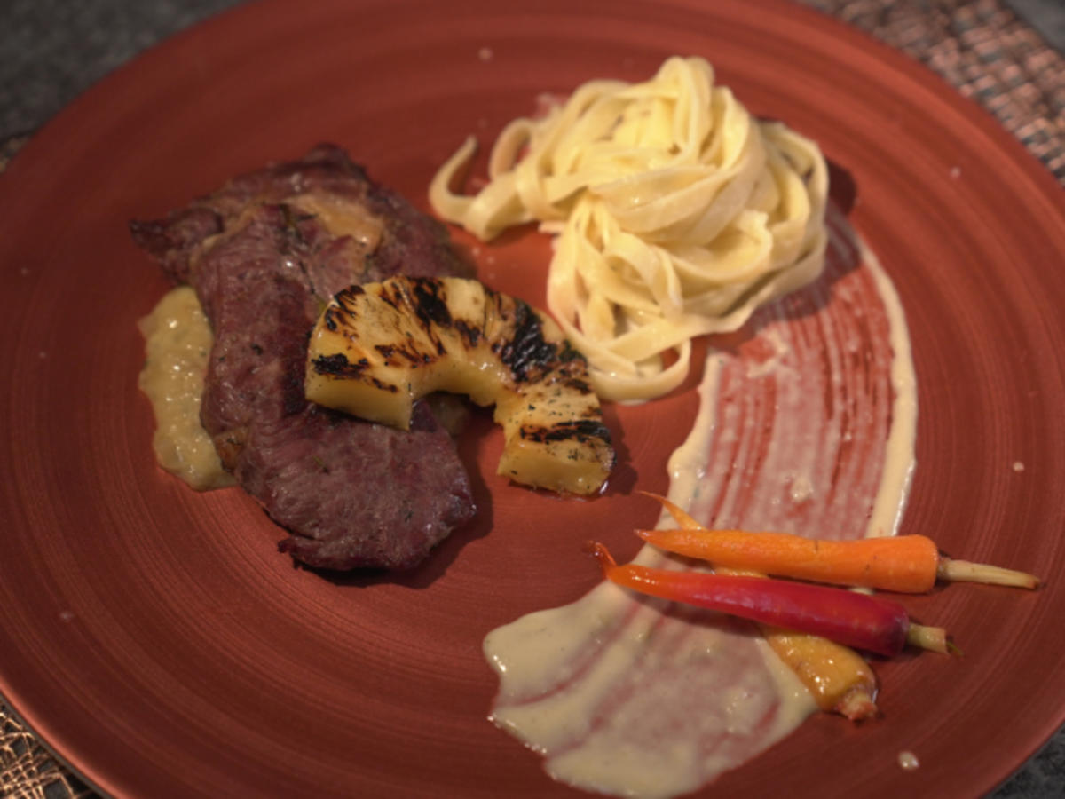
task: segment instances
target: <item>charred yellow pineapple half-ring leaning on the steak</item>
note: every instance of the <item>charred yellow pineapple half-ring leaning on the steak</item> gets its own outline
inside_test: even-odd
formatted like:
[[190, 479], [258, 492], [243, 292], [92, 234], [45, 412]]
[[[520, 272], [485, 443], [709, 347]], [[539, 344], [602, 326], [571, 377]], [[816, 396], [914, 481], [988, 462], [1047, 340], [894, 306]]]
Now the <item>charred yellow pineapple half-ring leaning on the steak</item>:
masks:
[[307, 398], [408, 429], [435, 391], [494, 405], [498, 474], [592, 494], [615, 463], [588, 364], [558, 326], [520, 299], [463, 278], [353, 286], [323, 311], [307, 356]]

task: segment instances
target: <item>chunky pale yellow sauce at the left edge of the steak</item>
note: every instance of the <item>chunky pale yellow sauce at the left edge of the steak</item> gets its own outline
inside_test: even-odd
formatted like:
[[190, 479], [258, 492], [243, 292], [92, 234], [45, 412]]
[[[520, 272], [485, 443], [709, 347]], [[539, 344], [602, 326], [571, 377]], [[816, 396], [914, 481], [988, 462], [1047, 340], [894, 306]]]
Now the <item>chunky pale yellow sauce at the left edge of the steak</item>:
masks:
[[234, 485], [200, 424], [212, 336], [196, 293], [187, 286], [169, 291], [137, 327], [146, 356], [137, 385], [155, 414], [159, 464], [198, 491]]

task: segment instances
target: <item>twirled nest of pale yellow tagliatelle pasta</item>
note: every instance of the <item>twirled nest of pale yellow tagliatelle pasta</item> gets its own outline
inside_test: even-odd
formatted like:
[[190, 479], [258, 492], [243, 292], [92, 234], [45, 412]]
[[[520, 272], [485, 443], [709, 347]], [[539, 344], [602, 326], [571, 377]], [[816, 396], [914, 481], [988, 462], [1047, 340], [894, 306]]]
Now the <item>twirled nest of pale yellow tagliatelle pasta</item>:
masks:
[[512, 120], [489, 183], [456, 194], [475, 147], [433, 177], [433, 210], [484, 241], [535, 221], [557, 235], [547, 308], [604, 398], [668, 393], [693, 338], [739, 328], [824, 264], [820, 149], [752, 117], [703, 59], [670, 58], [644, 83], [590, 81]]

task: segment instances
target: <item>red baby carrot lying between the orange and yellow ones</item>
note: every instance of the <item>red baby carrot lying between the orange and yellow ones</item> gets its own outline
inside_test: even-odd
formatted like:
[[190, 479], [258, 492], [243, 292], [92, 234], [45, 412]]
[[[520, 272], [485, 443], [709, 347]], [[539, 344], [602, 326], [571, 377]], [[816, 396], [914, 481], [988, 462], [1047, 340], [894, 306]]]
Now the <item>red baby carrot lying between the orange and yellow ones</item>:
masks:
[[902, 605], [881, 597], [768, 577], [619, 566], [602, 543], [590, 542], [587, 549], [607, 580], [641, 593], [813, 633], [882, 655], [896, 655], [906, 643], [947, 651], [945, 630], [912, 623]]

